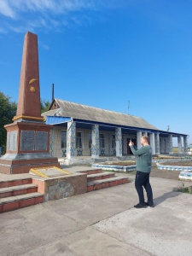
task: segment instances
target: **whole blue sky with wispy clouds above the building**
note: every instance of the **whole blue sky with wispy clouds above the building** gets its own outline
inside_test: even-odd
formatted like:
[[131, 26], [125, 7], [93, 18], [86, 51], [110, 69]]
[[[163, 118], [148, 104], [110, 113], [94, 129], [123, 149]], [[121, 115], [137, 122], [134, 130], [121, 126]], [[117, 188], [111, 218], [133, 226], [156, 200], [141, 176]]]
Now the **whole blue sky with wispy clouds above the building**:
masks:
[[30, 31], [42, 99], [54, 83], [55, 98], [169, 125], [192, 143], [191, 10], [189, 0], [0, 0], [0, 91], [17, 102]]

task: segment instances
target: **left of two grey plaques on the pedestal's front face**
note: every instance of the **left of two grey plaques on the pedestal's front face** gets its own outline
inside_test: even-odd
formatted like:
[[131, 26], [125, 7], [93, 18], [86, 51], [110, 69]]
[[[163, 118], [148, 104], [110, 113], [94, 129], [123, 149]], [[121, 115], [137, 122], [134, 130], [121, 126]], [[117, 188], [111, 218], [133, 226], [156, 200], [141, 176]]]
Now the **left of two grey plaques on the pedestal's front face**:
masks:
[[34, 131], [21, 131], [20, 150], [34, 150]]

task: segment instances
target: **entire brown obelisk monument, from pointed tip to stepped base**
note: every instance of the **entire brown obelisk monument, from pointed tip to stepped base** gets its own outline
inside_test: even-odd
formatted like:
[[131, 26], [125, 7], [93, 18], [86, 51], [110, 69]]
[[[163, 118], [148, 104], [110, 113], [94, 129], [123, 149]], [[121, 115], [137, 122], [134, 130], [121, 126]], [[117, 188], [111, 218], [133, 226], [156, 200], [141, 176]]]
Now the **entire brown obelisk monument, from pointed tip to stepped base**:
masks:
[[60, 167], [49, 154], [51, 125], [41, 116], [38, 36], [27, 32], [24, 39], [20, 90], [14, 123], [5, 125], [8, 132], [7, 151], [0, 159], [0, 172], [26, 173], [31, 168]]

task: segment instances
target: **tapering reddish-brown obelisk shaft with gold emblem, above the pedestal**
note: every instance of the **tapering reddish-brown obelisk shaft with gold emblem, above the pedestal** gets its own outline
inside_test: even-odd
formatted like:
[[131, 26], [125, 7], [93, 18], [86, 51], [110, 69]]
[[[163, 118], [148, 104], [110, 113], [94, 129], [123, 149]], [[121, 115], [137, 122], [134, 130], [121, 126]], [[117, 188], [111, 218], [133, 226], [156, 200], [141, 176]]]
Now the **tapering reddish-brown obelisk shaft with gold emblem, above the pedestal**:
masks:
[[16, 119], [44, 120], [39, 90], [38, 36], [31, 32], [27, 32], [24, 39]]

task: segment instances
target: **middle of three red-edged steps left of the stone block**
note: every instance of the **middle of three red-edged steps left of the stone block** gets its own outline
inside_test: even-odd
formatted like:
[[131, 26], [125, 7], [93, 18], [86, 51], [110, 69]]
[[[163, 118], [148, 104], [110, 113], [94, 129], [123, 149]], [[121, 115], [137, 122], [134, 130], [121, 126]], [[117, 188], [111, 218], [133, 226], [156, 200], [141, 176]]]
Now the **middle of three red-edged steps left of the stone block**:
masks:
[[12, 186], [0, 189], [0, 198], [24, 195], [29, 193], [38, 192], [38, 186], [34, 184], [24, 184], [20, 186]]

